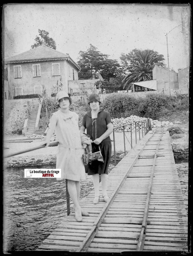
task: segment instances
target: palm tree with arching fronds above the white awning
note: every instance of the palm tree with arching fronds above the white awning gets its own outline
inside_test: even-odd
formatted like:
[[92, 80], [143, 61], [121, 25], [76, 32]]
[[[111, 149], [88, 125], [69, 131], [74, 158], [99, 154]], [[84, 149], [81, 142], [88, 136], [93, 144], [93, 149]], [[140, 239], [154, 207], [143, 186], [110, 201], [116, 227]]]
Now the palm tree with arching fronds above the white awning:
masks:
[[128, 66], [129, 74], [122, 80], [125, 89], [130, 89], [132, 83], [152, 79], [152, 69], [156, 65], [163, 65], [160, 62], [160, 55], [152, 50], [137, 51], [134, 58], [137, 65]]

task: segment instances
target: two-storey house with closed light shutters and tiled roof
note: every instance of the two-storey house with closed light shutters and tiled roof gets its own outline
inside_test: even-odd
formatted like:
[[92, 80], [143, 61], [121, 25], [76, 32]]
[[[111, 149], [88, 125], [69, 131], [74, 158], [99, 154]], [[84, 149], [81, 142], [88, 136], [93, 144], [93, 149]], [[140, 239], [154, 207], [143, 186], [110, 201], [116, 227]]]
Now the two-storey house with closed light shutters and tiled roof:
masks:
[[8, 94], [11, 98], [17, 95], [38, 94], [42, 92], [42, 85], [46, 87], [50, 96], [53, 86], [60, 80], [63, 89], [69, 93], [73, 93], [75, 88], [85, 87], [89, 79], [92, 81], [91, 84], [94, 82], [92, 73], [79, 73], [79, 65], [69, 54], [45, 45], [9, 57], [5, 59], [5, 64], [8, 67], [6, 97]]

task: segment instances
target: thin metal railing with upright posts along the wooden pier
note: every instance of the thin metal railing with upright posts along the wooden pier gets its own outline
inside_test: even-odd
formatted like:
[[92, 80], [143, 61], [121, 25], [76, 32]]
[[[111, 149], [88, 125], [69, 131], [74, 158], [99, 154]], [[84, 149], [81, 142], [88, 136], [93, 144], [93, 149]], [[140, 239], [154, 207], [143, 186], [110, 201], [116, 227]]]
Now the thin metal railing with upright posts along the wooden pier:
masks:
[[[129, 129], [127, 129], [127, 131], [130, 132], [130, 141], [129, 141], [129, 138], [127, 138], [127, 136], [126, 136], [125, 127], [129, 128]], [[124, 153], [126, 155], [125, 139], [127, 139], [131, 148], [133, 148], [133, 136], [135, 136], [135, 144], [137, 144], [137, 134], [139, 134], [139, 140], [140, 140], [141, 137], [143, 138], [143, 136], [145, 136], [146, 133], [148, 133], [148, 131], [152, 130], [150, 118], [135, 121], [135, 122], [130, 123], [130, 124], [120, 125], [120, 126], [117, 126], [117, 127], [113, 128], [113, 146], [114, 146], [114, 164], [115, 165], [117, 165], [116, 149], [115, 149], [116, 148], [115, 132], [116, 131], [119, 132], [120, 130], [121, 130], [121, 132], [123, 132]]]

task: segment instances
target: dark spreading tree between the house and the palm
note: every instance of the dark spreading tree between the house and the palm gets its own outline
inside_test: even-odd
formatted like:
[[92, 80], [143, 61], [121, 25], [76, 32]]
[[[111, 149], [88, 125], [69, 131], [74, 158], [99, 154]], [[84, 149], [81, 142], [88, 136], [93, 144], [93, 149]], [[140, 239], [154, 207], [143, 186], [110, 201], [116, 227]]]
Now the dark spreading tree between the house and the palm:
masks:
[[108, 59], [107, 54], [97, 51], [97, 48], [90, 44], [86, 52], [79, 52], [79, 61], [77, 64], [81, 72], [100, 72], [105, 80], [116, 77], [121, 72], [121, 67], [117, 60]]

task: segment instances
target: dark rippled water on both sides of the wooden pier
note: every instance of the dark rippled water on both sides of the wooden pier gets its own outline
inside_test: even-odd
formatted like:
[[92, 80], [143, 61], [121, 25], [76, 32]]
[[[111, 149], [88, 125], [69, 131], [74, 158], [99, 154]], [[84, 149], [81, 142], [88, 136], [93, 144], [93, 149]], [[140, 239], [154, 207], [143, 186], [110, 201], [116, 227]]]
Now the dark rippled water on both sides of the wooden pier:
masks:
[[[113, 167], [113, 163], [109, 165], [109, 172]], [[179, 162], [176, 167], [185, 204], [188, 204], [188, 162]], [[42, 168], [55, 167], [49, 165]], [[24, 168], [21, 167], [4, 171], [4, 252], [38, 248], [67, 215], [65, 189], [65, 181], [25, 179]], [[92, 189], [92, 176], [87, 176], [81, 181], [80, 197], [86, 196]]]

